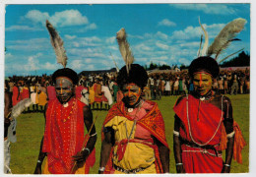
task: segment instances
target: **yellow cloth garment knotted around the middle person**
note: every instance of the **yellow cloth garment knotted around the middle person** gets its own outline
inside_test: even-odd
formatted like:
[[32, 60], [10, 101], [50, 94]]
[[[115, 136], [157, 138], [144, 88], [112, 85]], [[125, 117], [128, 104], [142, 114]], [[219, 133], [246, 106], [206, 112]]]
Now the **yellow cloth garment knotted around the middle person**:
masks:
[[[128, 120], [122, 116], [115, 116], [104, 127], [112, 127], [115, 131], [115, 141], [120, 142], [127, 139], [131, 134], [134, 121]], [[126, 131], [127, 128], [127, 131]], [[131, 135], [131, 139], [134, 139], [136, 131], [136, 125]], [[118, 161], [117, 146], [113, 150], [113, 164], [126, 170], [146, 168], [139, 173], [157, 173], [155, 162], [154, 148], [150, 148], [147, 145], [141, 143], [129, 142], [124, 152], [123, 158]], [[116, 170], [117, 171], [117, 170]], [[119, 173], [119, 172], [116, 172]]]

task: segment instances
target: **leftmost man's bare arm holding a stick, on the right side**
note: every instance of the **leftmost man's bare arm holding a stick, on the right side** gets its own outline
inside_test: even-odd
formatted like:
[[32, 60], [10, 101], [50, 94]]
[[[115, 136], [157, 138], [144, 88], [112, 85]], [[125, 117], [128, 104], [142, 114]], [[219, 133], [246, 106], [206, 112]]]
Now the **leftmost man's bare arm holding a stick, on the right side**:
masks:
[[77, 161], [77, 163], [85, 162], [89, 154], [93, 151], [96, 145], [96, 127], [93, 125], [93, 112], [90, 109], [89, 106], [84, 106], [84, 122], [87, 127], [88, 132], [90, 131], [92, 127], [92, 131], [90, 133], [90, 138], [85, 145], [85, 147], [79, 151], [74, 157], [74, 160]]

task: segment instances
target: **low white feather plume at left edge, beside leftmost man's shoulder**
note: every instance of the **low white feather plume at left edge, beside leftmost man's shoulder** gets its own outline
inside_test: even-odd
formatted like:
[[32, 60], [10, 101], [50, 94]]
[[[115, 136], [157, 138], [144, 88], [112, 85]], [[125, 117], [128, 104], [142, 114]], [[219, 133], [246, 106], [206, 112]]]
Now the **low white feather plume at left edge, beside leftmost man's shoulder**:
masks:
[[32, 105], [32, 99], [26, 98], [18, 102], [12, 108], [11, 119], [16, 119], [27, 107]]

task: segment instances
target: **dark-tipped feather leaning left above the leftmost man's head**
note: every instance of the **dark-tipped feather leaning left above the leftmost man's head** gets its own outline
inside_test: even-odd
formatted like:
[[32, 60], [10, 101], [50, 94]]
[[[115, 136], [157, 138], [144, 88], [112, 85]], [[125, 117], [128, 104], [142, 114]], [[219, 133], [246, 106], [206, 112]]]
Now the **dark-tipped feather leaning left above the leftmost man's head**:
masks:
[[64, 48], [64, 41], [61, 39], [60, 35], [58, 34], [57, 30], [46, 20], [46, 28], [50, 34], [50, 42], [54, 48], [57, 63], [63, 65], [66, 68], [68, 57], [66, 55], [66, 50]]

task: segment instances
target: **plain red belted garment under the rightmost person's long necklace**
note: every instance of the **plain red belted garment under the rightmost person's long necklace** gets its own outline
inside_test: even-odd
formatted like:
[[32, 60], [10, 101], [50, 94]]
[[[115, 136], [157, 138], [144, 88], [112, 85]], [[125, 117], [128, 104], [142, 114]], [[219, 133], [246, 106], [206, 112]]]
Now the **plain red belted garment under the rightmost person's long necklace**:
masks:
[[[181, 146], [186, 173], [221, 173], [223, 158], [217, 150], [222, 137], [224, 112], [203, 101], [199, 108], [199, 99], [192, 95], [175, 104], [173, 110], [182, 122], [180, 137], [193, 145]], [[210, 145], [215, 149], [197, 148], [194, 145]]]

